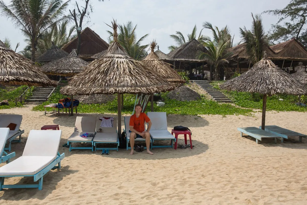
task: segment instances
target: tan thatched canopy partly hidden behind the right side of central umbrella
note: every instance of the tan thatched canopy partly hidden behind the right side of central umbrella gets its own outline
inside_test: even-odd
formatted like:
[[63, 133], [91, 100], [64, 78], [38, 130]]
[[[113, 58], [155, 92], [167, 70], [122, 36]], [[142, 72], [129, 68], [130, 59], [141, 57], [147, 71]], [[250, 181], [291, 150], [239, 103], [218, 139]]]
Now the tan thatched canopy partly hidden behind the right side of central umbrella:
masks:
[[156, 53], [154, 53], [154, 49], [157, 47], [156, 41], [152, 41], [150, 43], [151, 52], [147, 55], [144, 61], [155, 73], [159, 73], [162, 77], [164, 77], [168, 82], [171, 83], [185, 83], [185, 80], [182, 80], [180, 75], [171, 68], [171, 64], [162, 61]]

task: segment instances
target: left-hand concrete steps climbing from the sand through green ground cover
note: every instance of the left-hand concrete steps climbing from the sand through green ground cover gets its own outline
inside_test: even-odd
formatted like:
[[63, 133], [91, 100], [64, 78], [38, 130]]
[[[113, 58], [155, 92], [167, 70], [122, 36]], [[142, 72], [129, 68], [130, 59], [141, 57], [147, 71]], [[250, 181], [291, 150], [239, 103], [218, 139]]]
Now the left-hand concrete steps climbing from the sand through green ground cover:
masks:
[[28, 97], [25, 100], [25, 104], [42, 104], [46, 101], [46, 97], [48, 97], [54, 87], [36, 87], [33, 90], [33, 94], [31, 97]]

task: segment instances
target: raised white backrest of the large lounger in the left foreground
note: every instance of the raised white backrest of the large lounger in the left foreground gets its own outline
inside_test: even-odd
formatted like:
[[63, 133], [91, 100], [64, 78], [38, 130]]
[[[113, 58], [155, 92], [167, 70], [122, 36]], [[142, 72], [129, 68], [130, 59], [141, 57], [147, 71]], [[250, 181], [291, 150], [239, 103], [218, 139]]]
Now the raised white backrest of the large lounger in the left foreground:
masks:
[[30, 130], [22, 156], [53, 156], [59, 150], [62, 130]]

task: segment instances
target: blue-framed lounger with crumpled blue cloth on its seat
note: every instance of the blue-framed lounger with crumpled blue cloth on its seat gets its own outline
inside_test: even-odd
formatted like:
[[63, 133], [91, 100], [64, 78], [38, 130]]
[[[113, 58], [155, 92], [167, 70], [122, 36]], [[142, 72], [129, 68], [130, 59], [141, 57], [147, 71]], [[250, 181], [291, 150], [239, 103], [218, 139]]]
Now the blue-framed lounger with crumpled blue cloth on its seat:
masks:
[[[94, 150], [94, 137], [80, 137], [84, 133], [91, 133], [95, 135], [96, 129], [96, 117], [81, 117], [77, 116], [75, 123], [75, 131], [67, 139], [67, 144], [69, 145], [69, 152], [72, 149], [90, 149]], [[72, 143], [87, 143], [91, 144], [91, 147], [72, 147]]]

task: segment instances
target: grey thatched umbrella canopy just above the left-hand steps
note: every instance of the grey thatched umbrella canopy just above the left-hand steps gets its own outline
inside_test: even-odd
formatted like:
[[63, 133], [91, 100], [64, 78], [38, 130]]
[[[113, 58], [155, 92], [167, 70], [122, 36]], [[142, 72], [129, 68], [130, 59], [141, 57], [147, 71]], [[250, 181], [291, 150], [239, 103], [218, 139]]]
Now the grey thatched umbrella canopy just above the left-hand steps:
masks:
[[42, 66], [43, 71], [48, 75], [73, 76], [80, 73], [88, 65], [88, 62], [77, 56], [76, 49], [63, 58], [52, 61]]

